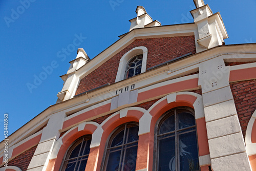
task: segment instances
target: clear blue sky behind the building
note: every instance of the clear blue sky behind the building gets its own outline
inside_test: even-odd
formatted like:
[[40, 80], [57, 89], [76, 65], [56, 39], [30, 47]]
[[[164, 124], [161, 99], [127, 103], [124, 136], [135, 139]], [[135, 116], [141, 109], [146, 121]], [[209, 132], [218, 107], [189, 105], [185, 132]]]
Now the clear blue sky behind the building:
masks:
[[[205, 0], [205, 4], [214, 13], [220, 11], [229, 35], [226, 45], [256, 42], [256, 0]], [[129, 31], [137, 5], [162, 25], [193, 22], [189, 13], [195, 9], [193, 0], [0, 1], [0, 138], [4, 139], [5, 113], [10, 135], [55, 104], [63, 83], [59, 76], [67, 73], [77, 48], [93, 58], [112, 45]], [[77, 36], [82, 38], [74, 44]], [[40, 75], [49, 66], [52, 70]], [[44, 80], [29, 89], [39, 76]]]

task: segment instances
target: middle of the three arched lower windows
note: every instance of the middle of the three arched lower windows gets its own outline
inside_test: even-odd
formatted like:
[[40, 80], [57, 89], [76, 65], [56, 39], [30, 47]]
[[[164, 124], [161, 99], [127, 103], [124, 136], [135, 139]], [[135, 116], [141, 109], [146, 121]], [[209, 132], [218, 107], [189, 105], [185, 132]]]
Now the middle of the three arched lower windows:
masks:
[[109, 139], [103, 170], [135, 171], [139, 126], [125, 123], [118, 127]]

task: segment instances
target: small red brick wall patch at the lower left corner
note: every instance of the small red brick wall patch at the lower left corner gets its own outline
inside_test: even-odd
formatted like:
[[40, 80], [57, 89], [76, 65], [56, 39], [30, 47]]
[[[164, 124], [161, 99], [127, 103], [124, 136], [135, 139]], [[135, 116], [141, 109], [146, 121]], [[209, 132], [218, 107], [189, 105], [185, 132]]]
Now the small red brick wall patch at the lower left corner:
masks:
[[8, 162], [8, 166], [16, 166], [19, 167], [22, 170], [27, 170], [29, 163], [35, 153], [37, 145], [28, 149], [26, 152], [23, 154], [18, 155], [14, 159]]

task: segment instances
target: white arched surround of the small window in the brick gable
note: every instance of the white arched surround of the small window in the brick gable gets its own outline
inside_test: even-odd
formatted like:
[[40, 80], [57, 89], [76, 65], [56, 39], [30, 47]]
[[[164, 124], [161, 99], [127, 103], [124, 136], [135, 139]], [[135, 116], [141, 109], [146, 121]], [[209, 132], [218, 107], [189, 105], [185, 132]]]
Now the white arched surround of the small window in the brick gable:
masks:
[[130, 51], [126, 52], [119, 61], [118, 71], [115, 82], [124, 79], [127, 62], [134, 56], [143, 54], [141, 73], [146, 72], [146, 60], [147, 60], [147, 48], [144, 46], [135, 47]]

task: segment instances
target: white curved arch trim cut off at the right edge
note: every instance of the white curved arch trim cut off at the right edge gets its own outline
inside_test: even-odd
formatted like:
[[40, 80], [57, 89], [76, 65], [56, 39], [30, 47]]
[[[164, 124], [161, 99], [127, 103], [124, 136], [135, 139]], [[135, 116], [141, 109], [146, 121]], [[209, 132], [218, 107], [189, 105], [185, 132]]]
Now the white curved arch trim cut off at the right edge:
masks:
[[254, 122], [256, 122], [256, 110], [253, 112], [251, 119], [249, 120], [245, 134], [246, 152], [248, 156], [256, 154], [256, 143], [251, 142], [252, 127]]

